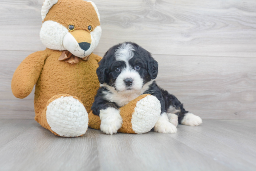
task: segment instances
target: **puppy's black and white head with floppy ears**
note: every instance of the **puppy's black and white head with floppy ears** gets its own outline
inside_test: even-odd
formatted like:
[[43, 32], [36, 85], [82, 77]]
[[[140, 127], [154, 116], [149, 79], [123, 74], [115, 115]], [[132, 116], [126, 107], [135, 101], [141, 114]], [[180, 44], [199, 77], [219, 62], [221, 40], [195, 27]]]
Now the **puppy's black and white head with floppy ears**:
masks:
[[111, 47], [99, 64], [100, 83], [115, 87], [118, 92], [139, 91], [158, 72], [158, 63], [151, 54], [131, 42]]

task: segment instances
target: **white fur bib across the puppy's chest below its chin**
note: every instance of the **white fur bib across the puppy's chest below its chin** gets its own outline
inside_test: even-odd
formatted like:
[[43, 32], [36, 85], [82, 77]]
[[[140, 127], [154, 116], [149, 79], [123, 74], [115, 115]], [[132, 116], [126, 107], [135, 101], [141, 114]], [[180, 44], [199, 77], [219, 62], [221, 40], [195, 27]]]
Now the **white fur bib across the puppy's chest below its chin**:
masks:
[[130, 101], [136, 99], [145, 91], [148, 90], [149, 85], [153, 83], [154, 80], [149, 81], [140, 90], [125, 90], [123, 92], [118, 92], [114, 87], [107, 85], [106, 83], [101, 84], [101, 87], [104, 86], [108, 89], [108, 91], [104, 91], [104, 98], [110, 102], [115, 102], [118, 106], [122, 107], [127, 105]]

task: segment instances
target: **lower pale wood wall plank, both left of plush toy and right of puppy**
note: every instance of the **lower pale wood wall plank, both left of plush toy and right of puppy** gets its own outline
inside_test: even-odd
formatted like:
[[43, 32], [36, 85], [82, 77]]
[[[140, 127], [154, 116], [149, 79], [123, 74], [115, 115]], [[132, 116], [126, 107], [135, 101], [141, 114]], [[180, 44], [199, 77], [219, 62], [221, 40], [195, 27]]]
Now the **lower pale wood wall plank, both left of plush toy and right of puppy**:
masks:
[[[11, 91], [13, 72], [31, 51], [0, 51], [0, 118], [34, 118], [34, 90], [25, 99]], [[103, 53], [97, 53], [103, 56]], [[256, 58], [153, 55], [158, 85], [203, 119], [256, 118]]]

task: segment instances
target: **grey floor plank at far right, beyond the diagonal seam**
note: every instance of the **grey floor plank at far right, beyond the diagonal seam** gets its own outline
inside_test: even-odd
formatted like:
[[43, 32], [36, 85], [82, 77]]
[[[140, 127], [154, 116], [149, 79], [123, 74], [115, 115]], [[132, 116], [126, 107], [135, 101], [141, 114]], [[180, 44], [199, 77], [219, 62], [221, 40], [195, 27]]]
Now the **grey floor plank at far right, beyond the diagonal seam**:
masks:
[[254, 171], [256, 125], [255, 120], [245, 122], [251, 126], [241, 120], [205, 120], [198, 127], [178, 125], [178, 133], [168, 136], [232, 170]]

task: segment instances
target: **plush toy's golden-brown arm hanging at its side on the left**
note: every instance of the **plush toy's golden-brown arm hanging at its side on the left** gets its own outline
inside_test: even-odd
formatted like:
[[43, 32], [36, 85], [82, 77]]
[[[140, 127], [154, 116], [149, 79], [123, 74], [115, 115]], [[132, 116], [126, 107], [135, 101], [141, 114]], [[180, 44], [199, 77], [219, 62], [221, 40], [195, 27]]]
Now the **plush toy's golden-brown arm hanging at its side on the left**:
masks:
[[30, 54], [20, 63], [12, 79], [12, 92], [16, 98], [23, 99], [30, 94], [46, 58], [46, 51], [38, 51]]

